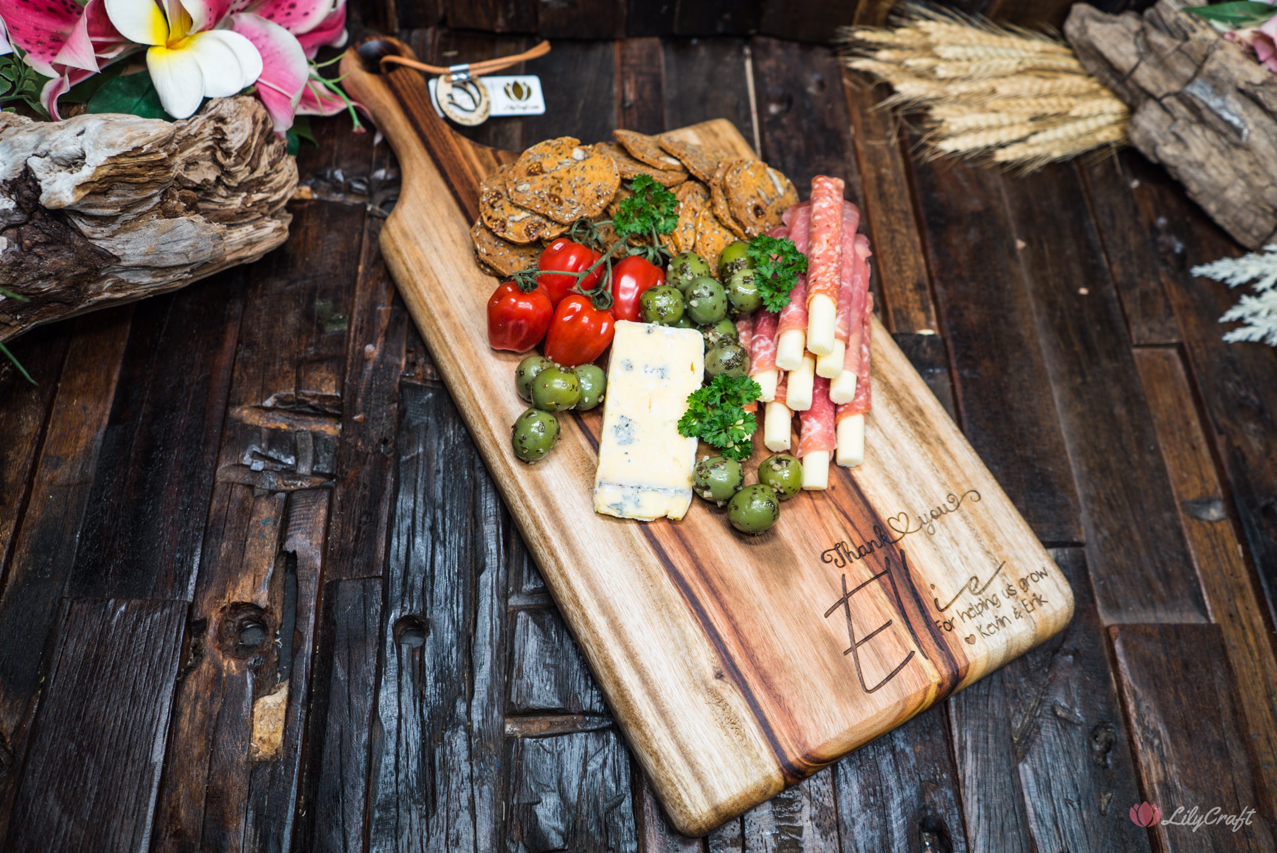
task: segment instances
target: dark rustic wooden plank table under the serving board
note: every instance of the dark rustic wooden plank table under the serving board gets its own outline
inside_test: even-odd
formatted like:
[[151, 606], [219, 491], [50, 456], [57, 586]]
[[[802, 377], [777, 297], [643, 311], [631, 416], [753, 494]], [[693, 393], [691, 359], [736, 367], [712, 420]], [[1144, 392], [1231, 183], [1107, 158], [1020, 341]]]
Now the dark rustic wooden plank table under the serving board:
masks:
[[[580, 5], [540, 5], [585, 37], [527, 69], [547, 115], [470, 133], [723, 116], [799, 185], [845, 175], [882, 319], [1052, 549], [1070, 628], [676, 836], [395, 296], [393, 158], [318, 121], [283, 248], [28, 335], [36, 387], [0, 374], [0, 849], [1277, 849], [1277, 354], [1223, 343], [1234, 295], [1188, 272], [1239, 248], [1134, 152], [919, 161], [827, 46], [742, 34], [822, 37], [783, 4]], [[442, 64], [538, 20], [352, 15]], [[1142, 799], [1255, 813], [1144, 830]]]

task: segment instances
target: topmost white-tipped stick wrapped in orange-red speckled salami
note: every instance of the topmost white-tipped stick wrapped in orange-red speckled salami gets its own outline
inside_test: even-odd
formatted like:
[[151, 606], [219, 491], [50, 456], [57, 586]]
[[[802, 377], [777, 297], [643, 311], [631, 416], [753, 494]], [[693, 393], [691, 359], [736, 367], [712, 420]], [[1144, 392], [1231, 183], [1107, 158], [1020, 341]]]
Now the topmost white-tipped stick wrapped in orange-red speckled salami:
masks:
[[807, 349], [834, 350], [838, 289], [843, 267], [843, 179], [816, 175], [811, 181], [811, 246], [807, 252]]

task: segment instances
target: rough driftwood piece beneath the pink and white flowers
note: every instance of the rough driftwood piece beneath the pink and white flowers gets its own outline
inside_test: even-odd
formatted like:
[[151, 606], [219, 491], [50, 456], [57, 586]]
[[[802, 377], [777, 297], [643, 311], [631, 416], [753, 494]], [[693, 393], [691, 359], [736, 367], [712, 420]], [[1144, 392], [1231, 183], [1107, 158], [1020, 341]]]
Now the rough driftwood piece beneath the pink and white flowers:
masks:
[[298, 167], [252, 97], [183, 121], [0, 114], [0, 342], [257, 260]]

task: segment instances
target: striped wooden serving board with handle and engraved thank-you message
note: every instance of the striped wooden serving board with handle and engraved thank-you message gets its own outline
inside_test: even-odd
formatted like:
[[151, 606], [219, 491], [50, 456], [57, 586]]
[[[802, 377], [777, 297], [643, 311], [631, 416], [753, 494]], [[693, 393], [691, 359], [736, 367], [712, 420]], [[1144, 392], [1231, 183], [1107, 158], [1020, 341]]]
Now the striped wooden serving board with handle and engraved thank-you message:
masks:
[[[469, 234], [479, 180], [517, 155], [452, 133], [418, 72], [361, 66], [406, 46], [359, 50], [346, 83], [404, 172], [386, 262], [679, 831], [714, 829], [1065, 626], [1064, 576], [877, 322], [865, 464], [831, 466], [829, 490], [783, 504], [761, 536], [700, 499], [677, 522], [595, 515], [601, 409], [561, 416], [558, 447], [520, 462], [521, 356], [488, 347], [497, 282]], [[755, 156], [724, 120], [676, 134]]]

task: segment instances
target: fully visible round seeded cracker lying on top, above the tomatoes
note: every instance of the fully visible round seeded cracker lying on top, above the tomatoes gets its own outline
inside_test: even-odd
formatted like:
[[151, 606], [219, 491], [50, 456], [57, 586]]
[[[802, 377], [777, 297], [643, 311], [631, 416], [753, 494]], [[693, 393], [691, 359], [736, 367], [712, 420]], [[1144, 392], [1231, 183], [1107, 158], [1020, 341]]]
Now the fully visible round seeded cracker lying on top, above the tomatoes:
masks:
[[596, 217], [619, 185], [612, 157], [572, 137], [536, 143], [506, 177], [511, 202], [563, 225]]

